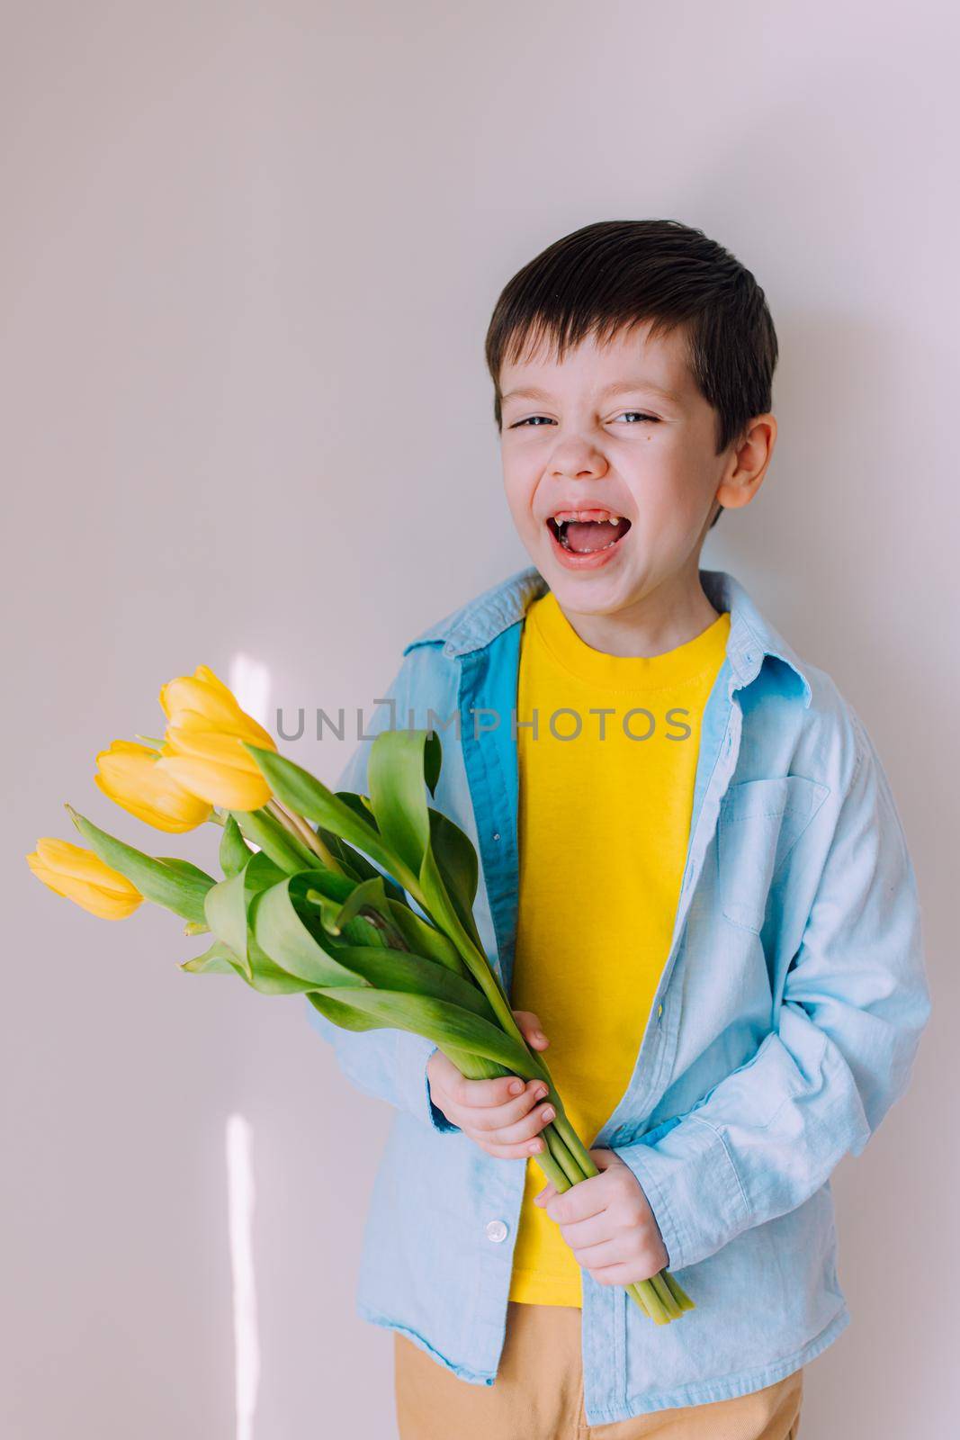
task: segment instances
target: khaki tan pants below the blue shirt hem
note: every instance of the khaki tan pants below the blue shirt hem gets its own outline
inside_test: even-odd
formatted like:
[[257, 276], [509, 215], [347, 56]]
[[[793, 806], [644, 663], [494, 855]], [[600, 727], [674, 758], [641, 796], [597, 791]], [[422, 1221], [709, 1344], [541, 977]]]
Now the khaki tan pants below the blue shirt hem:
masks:
[[583, 1413], [581, 1310], [507, 1306], [497, 1380], [458, 1380], [399, 1331], [394, 1388], [400, 1440], [796, 1440], [803, 1369], [735, 1400], [656, 1410], [604, 1426]]

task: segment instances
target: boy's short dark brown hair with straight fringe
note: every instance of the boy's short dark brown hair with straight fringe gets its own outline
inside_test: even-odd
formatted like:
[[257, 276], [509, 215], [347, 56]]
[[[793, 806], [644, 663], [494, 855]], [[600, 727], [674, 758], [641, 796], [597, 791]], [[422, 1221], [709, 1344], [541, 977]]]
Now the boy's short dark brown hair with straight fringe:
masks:
[[653, 337], [682, 327], [697, 387], [717, 412], [717, 455], [773, 409], [777, 336], [750, 271], [679, 220], [597, 220], [517, 271], [494, 307], [485, 353], [497, 429], [501, 367], [528, 341], [545, 338], [561, 361], [589, 334], [603, 344], [643, 323]]

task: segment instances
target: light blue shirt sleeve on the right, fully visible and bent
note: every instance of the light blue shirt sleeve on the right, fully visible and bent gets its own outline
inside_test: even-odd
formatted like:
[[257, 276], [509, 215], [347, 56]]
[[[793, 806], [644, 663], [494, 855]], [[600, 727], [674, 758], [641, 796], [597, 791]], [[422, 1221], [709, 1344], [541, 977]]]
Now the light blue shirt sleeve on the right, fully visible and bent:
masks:
[[615, 1146], [682, 1270], [813, 1195], [908, 1084], [930, 1015], [913, 864], [877, 750], [851, 707], [852, 776], [777, 1028], [692, 1110]]

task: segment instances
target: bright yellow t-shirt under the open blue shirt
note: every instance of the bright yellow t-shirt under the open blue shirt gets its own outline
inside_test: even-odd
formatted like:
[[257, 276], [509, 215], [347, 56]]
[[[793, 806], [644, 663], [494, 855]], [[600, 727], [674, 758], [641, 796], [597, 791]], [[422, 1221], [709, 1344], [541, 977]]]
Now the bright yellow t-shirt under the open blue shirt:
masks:
[[[609, 655], [580, 639], [553, 590], [524, 621], [511, 1004], [540, 1015], [547, 1064], [587, 1149], [630, 1081], [666, 963], [699, 724], [728, 631], [725, 611], [676, 649]], [[590, 713], [603, 707], [613, 713]], [[524, 726], [534, 711], [535, 739]], [[531, 1156], [510, 1299], [580, 1306], [580, 1266], [533, 1204], [545, 1184]]]

